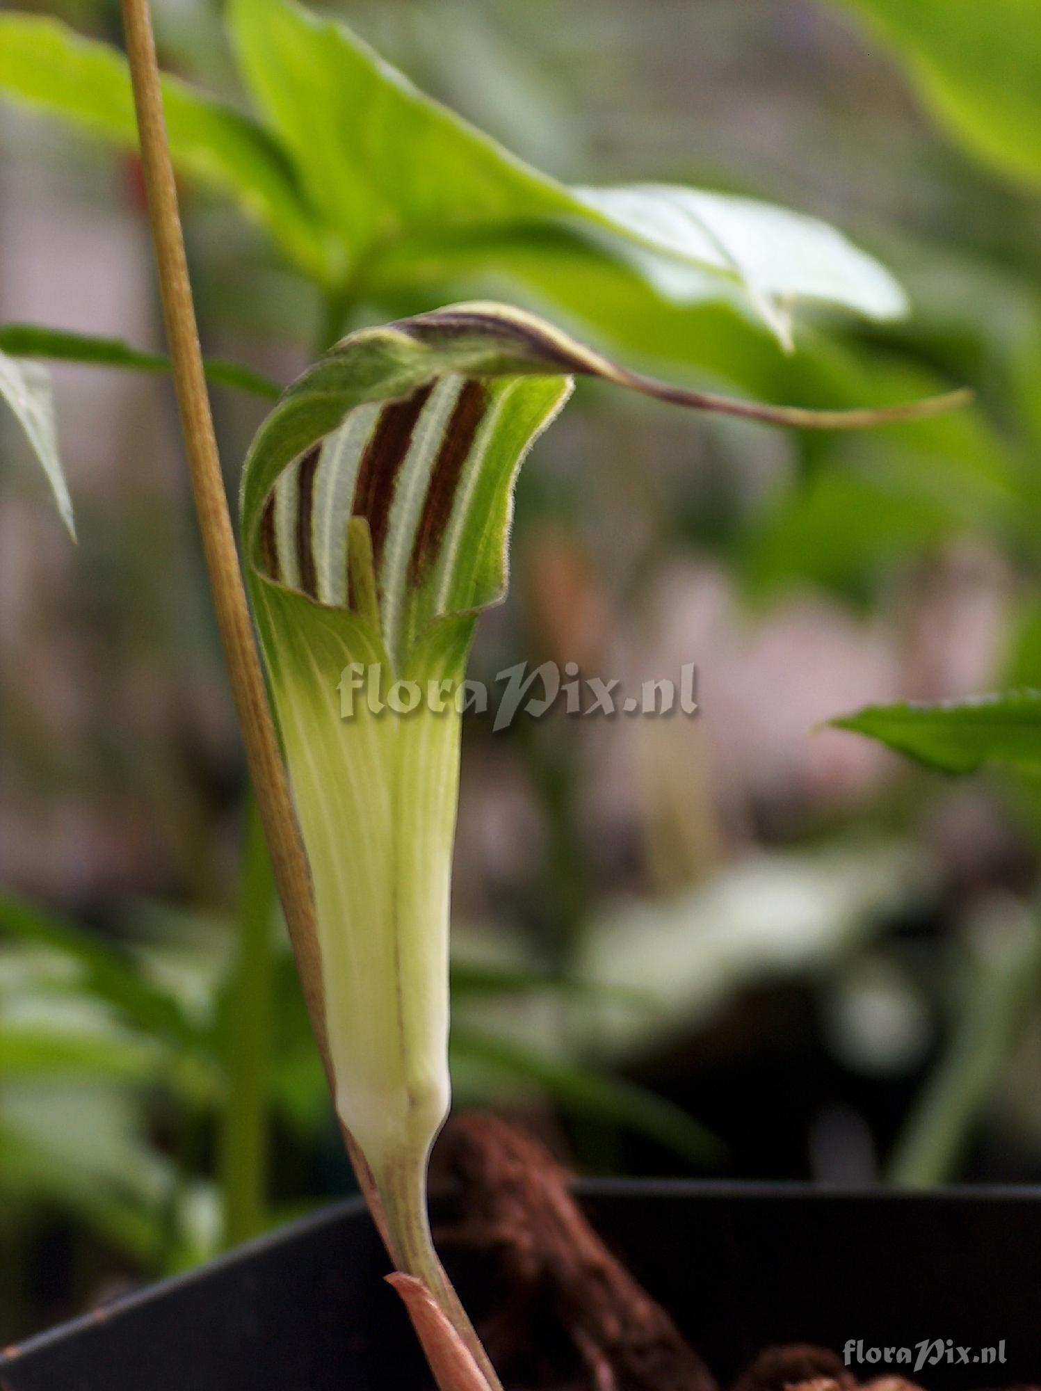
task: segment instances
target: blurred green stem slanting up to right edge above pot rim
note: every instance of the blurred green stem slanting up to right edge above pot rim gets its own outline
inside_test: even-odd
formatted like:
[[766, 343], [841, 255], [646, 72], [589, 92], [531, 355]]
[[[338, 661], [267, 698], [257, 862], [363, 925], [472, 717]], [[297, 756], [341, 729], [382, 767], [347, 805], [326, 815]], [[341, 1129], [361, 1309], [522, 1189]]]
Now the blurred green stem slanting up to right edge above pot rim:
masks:
[[946, 1054], [927, 1079], [889, 1160], [902, 1188], [951, 1182], [1035, 1003], [1041, 928], [978, 963]]

